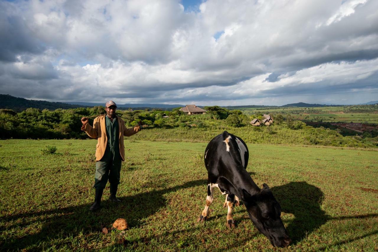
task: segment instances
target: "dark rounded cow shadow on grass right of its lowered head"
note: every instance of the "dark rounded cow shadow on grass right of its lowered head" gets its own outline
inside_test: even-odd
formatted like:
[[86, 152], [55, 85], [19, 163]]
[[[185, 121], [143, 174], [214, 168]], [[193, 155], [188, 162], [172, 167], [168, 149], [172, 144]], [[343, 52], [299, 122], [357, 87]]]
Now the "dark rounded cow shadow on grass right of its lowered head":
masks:
[[290, 182], [273, 187], [271, 191], [280, 203], [282, 212], [294, 215], [294, 219], [286, 227], [293, 244], [304, 239], [329, 219], [321, 209], [324, 194], [316, 186], [305, 181]]

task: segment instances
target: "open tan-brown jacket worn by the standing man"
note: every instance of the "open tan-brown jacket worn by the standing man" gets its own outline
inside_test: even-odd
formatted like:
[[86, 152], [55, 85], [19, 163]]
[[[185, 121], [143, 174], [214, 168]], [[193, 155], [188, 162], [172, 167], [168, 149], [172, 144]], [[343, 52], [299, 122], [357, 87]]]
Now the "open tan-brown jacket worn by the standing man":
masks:
[[[96, 145], [96, 161], [101, 160], [104, 156], [108, 138], [106, 136], [106, 127], [105, 127], [105, 115], [98, 116], [93, 121], [93, 127], [87, 123], [81, 127], [81, 130], [84, 130], [88, 136], [91, 138], [97, 138]], [[125, 122], [117, 117], [118, 128], [119, 128], [119, 154], [121, 154], [122, 161], [125, 161], [125, 147], [123, 144], [124, 136], [132, 136], [138, 131], [141, 130], [140, 126], [135, 126], [133, 128], [126, 128]]]

